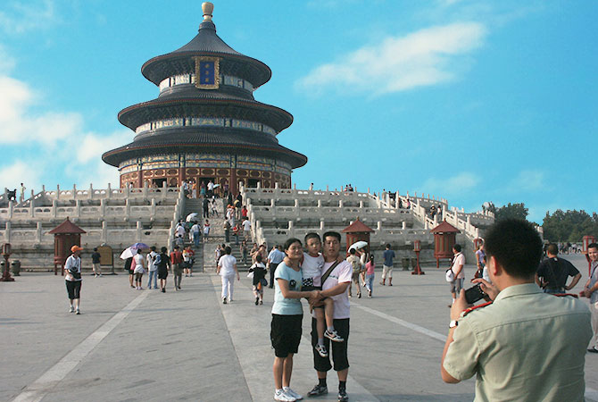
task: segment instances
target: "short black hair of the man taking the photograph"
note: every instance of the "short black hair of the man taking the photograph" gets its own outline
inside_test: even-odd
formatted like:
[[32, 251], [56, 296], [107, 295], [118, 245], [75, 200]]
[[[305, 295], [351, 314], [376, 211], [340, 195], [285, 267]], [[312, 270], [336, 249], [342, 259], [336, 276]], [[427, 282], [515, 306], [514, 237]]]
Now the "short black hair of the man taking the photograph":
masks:
[[486, 234], [486, 256], [492, 256], [510, 276], [529, 279], [542, 258], [542, 239], [527, 221], [506, 219], [494, 223]]

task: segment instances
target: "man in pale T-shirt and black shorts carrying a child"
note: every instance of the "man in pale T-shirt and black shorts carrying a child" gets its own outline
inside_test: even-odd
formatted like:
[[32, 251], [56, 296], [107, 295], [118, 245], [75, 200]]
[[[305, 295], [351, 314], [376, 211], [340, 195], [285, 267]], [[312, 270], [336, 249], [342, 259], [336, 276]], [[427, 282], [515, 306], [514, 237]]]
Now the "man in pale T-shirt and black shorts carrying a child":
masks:
[[[349, 400], [346, 393], [346, 381], [349, 375], [349, 317], [350, 304], [347, 289], [351, 284], [353, 270], [351, 264], [346, 260], [336, 264], [339, 257], [341, 247], [341, 235], [336, 231], [328, 231], [322, 236], [324, 239], [323, 255], [324, 267], [322, 268], [322, 290], [321, 297], [331, 297], [334, 301], [334, 327], [338, 335], [345, 339], [344, 342], [330, 342], [328, 338], [325, 339], [325, 347], [330, 350], [330, 343], [332, 344], [332, 353], [327, 357], [322, 357], [316, 350], [318, 344], [318, 322], [315, 315], [311, 316], [311, 346], [313, 352], [313, 367], [318, 375], [318, 384], [308, 393], [310, 397], [328, 393], [327, 373], [332, 368], [330, 364], [330, 356], [336, 375], [338, 376], [338, 400], [345, 402]], [[329, 272], [328, 272], [329, 271]], [[311, 306], [315, 301], [310, 300]]]

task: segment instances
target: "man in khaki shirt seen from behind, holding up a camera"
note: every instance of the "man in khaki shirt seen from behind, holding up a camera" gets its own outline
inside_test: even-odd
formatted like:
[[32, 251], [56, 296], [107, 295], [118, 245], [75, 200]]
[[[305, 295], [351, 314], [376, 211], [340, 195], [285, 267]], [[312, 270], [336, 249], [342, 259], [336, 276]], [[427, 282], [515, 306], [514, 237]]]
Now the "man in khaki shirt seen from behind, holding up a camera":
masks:
[[494, 303], [467, 308], [465, 291], [451, 308], [441, 361], [443, 381], [477, 374], [476, 400], [583, 401], [590, 312], [574, 297], [544, 294], [535, 283], [542, 240], [526, 221], [497, 222], [486, 235]]

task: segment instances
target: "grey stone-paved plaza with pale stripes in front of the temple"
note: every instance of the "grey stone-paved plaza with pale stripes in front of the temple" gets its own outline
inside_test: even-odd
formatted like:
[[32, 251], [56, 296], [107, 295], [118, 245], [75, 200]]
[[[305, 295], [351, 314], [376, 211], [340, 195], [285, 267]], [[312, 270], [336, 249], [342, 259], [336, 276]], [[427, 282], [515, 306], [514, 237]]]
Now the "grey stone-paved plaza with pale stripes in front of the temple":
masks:
[[[565, 256], [567, 257], [567, 256]], [[582, 256], [571, 259], [587, 278]], [[450, 302], [444, 270], [395, 271], [395, 286], [353, 297], [349, 338], [352, 401], [466, 401], [473, 379], [444, 384], [440, 356]], [[474, 272], [466, 266], [468, 278]], [[183, 277], [181, 291], [129, 288], [125, 274], [84, 277], [81, 315], [68, 313], [62, 277], [25, 272], [0, 283], [0, 400], [270, 401], [273, 394], [270, 307], [254, 306], [241, 274], [234, 302], [222, 305], [220, 277]], [[353, 293], [354, 294], [354, 293]], [[316, 383], [310, 320], [295, 356], [292, 388]], [[586, 398], [598, 400], [598, 356], [586, 356]], [[334, 372], [329, 394], [336, 400]]]

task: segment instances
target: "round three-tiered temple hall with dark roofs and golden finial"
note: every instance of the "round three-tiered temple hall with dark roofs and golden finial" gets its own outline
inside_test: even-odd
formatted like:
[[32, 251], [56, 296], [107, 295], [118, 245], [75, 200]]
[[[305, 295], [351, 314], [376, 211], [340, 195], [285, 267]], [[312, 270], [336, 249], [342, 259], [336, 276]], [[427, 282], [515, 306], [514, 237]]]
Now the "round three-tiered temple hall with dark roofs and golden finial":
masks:
[[293, 169], [307, 157], [278, 144], [293, 116], [253, 98], [270, 68], [228, 46], [203, 3], [199, 33], [187, 45], [147, 61], [141, 72], [160, 88], [151, 101], [129, 106], [119, 121], [133, 142], [102, 155], [119, 168], [120, 187], [180, 186], [212, 180], [237, 192], [237, 183], [291, 187]]

